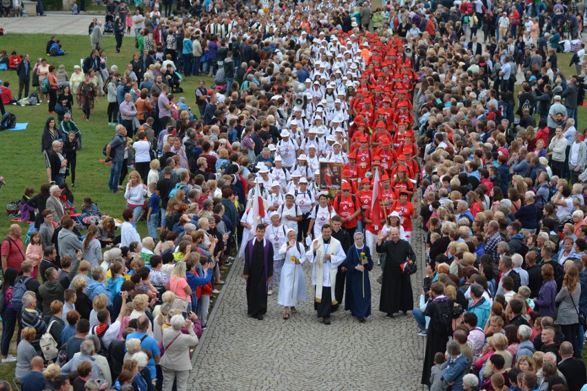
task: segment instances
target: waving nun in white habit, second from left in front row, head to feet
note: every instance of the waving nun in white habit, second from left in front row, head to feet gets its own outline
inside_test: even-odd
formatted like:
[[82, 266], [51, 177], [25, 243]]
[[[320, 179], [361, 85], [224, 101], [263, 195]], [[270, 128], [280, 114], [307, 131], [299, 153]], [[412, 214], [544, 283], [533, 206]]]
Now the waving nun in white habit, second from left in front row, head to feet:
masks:
[[279, 249], [280, 255], [285, 255], [285, 264], [281, 269], [280, 290], [277, 304], [285, 307], [283, 319], [289, 319], [291, 313], [298, 313], [297, 302], [306, 300], [306, 282], [302, 263], [306, 260], [304, 245], [296, 241], [296, 231], [287, 230], [287, 242]]

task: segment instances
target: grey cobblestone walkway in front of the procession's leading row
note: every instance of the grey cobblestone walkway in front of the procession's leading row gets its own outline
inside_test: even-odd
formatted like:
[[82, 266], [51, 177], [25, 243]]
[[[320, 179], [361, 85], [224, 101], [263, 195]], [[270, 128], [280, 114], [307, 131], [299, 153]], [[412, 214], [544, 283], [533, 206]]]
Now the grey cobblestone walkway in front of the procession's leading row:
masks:
[[[413, 237], [421, 237], [420, 229]], [[414, 242], [421, 259], [421, 240]], [[304, 265], [309, 298], [310, 266]], [[422, 286], [420, 269], [412, 277], [415, 293]], [[243, 262], [238, 262], [198, 347], [191, 390], [422, 390], [424, 338], [416, 335], [411, 313], [386, 319], [378, 311], [379, 266], [371, 272], [373, 314], [366, 324], [340, 309], [326, 326], [311, 299], [283, 320], [276, 290], [265, 319], [251, 319], [242, 274]]]

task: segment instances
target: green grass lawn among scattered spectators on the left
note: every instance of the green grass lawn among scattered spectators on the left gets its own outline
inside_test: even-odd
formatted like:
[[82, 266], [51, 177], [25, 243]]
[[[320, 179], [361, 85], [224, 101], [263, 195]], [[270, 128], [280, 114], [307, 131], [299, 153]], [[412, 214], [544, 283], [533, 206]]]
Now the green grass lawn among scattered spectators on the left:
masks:
[[[63, 64], [71, 74], [74, 65], [79, 65], [80, 59], [90, 53], [90, 40], [87, 36], [59, 35], [57, 31], [55, 34], [58, 35], [61, 45], [68, 54], [61, 57], [49, 57], [48, 63], [56, 67]], [[0, 47], [5, 48], [8, 52], [17, 50], [19, 54], [27, 53], [30, 54], [31, 59], [37, 59], [37, 57], [45, 57], [45, 45], [49, 39], [50, 35], [43, 34], [8, 34], [2, 37]], [[125, 64], [132, 59], [132, 54], [136, 51], [134, 40], [130, 37], [125, 37], [121, 53], [116, 53], [114, 50], [114, 36], [104, 36], [103, 45], [107, 54], [108, 66], [116, 64], [119, 69], [124, 69]], [[12, 94], [18, 95], [19, 83], [15, 72], [0, 72], [0, 79], [10, 81]], [[198, 116], [194, 90], [199, 79], [200, 77], [184, 78], [182, 87], [185, 93], [176, 96], [176, 98], [185, 96], [188, 105], [192, 107], [192, 110], [195, 110]], [[204, 80], [207, 86], [214, 83], [213, 79], [207, 76], [204, 77]], [[0, 133], [0, 176], [6, 180], [6, 186], [0, 189], [1, 209], [4, 209], [8, 202], [19, 200], [25, 187], [34, 187], [38, 191], [41, 184], [47, 180], [41, 156], [41, 134], [45, 121], [50, 116], [47, 104], [48, 102], [44, 101], [39, 106], [6, 106], [6, 112], [16, 114], [20, 123], [28, 122], [28, 127], [25, 131], [3, 131]], [[81, 205], [81, 200], [84, 197], [91, 197], [97, 202], [103, 213], [120, 217], [125, 209], [124, 193], [119, 191], [114, 194], [108, 191], [110, 166], [103, 165], [99, 161], [104, 158], [102, 154], [104, 145], [110, 142], [114, 136], [114, 127], [107, 125], [106, 107], [106, 98], [102, 96], [96, 103], [90, 122], [85, 122], [81, 111], [74, 109], [74, 121], [83, 134], [83, 151], [79, 151], [77, 154], [76, 188], [72, 191], [75, 195], [76, 205]], [[67, 182], [71, 184], [70, 178], [67, 178]], [[11, 223], [6, 211], [2, 211], [2, 213], [0, 235], [6, 237]], [[23, 233], [26, 233], [28, 226], [22, 224], [22, 227]], [[147, 235], [145, 222], [138, 223], [138, 231], [141, 236]], [[15, 344], [13, 345], [14, 349], [11, 349], [11, 353], [16, 356]], [[12, 377], [14, 377], [14, 365], [0, 364], [0, 379], [12, 379]]]

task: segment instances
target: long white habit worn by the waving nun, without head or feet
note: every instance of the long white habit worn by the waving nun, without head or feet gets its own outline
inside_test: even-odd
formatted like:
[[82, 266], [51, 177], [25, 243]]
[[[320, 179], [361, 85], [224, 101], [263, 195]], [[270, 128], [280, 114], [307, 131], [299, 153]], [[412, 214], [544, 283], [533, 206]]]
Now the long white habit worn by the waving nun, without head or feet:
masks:
[[300, 263], [304, 263], [306, 254], [304, 253], [304, 245], [302, 243], [298, 242], [301, 253], [298, 251], [298, 246], [294, 246], [286, 251], [287, 244], [288, 242], [282, 244], [279, 249], [280, 256], [285, 255], [285, 264], [283, 264], [281, 269], [277, 304], [293, 307], [296, 306], [297, 302], [305, 302], [307, 297], [304, 270], [301, 264], [297, 265], [292, 262], [291, 257], [296, 257]]

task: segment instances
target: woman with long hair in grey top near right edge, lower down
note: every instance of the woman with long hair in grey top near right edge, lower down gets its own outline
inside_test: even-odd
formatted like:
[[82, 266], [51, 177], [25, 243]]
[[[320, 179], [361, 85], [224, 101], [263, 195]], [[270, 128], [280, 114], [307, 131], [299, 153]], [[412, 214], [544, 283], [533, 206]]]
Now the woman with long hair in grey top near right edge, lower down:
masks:
[[579, 270], [575, 266], [567, 269], [562, 288], [555, 299], [558, 311], [558, 324], [564, 334], [564, 340], [573, 344], [573, 351], [578, 352], [577, 332], [579, 332], [579, 297], [581, 296], [581, 284], [579, 284]]

